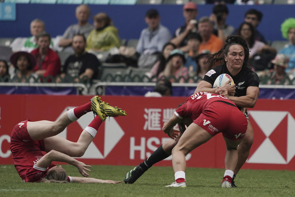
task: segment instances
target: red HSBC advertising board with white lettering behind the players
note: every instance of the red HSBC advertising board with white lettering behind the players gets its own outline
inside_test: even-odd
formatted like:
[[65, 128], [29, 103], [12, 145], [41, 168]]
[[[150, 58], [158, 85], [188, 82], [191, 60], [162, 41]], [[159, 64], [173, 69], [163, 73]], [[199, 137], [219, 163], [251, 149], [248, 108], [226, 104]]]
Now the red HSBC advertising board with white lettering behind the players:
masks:
[[[0, 164], [12, 164], [10, 133], [26, 119], [55, 121], [68, 109], [86, 103], [91, 96], [0, 95]], [[135, 166], [170, 138], [161, 130], [186, 97], [145, 98], [103, 96], [121, 107], [127, 116], [107, 118], [85, 154], [79, 158], [91, 165]], [[295, 100], [257, 101], [248, 109], [254, 143], [243, 168], [295, 170]], [[98, 118], [98, 117], [96, 117]], [[76, 142], [93, 119], [89, 112], [59, 135]], [[223, 168], [226, 146], [218, 134], [187, 155], [188, 167]], [[172, 166], [172, 157], [155, 165]]]

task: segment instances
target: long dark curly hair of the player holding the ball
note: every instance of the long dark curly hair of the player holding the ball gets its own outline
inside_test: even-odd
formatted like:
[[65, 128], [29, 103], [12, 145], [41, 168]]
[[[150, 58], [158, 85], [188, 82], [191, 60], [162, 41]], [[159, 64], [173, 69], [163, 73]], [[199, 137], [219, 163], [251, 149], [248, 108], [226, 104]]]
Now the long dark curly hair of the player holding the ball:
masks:
[[244, 53], [245, 53], [245, 58], [244, 58], [242, 68], [248, 67], [251, 69], [251, 66], [248, 65], [249, 47], [248, 47], [246, 40], [244, 38], [242, 38], [241, 36], [227, 36], [225, 42], [226, 43], [222, 46], [222, 48], [217, 53], [210, 55], [210, 57], [208, 59], [209, 65], [212, 68], [215, 67], [216, 64], [218, 64], [217, 66], [220, 66], [223, 64], [226, 65], [224, 55], [227, 55], [228, 50], [230, 49], [230, 46], [238, 44], [243, 47]]

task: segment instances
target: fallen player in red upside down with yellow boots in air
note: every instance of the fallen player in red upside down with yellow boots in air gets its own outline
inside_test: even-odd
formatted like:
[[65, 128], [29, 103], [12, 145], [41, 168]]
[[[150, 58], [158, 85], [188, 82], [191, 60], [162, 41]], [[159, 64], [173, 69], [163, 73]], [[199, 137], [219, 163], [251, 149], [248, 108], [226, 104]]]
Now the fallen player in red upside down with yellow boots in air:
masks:
[[[57, 135], [64, 131], [70, 123], [87, 112], [93, 111], [100, 117], [86, 127], [76, 143]], [[95, 137], [100, 124], [106, 116], [126, 115], [125, 111], [101, 102], [94, 96], [88, 103], [66, 111], [55, 121], [30, 120], [18, 123], [11, 132], [10, 149], [14, 166], [24, 182], [79, 182], [79, 183], [120, 183], [120, 181], [100, 180], [94, 178], [70, 177], [61, 166], [52, 162], [66, 162], [78, 168], [81, 175], [89, 176], [90, 170], [84, 163], [72, 157], [84, 155], [87, 147]], [[41, 151], [47, 152], [45, 155]]]

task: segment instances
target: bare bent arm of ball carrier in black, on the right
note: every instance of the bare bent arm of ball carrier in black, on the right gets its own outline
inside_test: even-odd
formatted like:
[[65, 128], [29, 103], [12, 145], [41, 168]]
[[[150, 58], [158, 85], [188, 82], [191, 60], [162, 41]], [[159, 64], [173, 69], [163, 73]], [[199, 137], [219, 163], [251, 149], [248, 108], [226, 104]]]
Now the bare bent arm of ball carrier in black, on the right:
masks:
[[229, 99], [239, 107], [253, 108], [257, 101], [258, 94], [259, 94], [258, 87], [249, 86], [247, 87], [247, 90], [246, 90], [246, 96], [240, 96], [240, 97], [230, 96]]

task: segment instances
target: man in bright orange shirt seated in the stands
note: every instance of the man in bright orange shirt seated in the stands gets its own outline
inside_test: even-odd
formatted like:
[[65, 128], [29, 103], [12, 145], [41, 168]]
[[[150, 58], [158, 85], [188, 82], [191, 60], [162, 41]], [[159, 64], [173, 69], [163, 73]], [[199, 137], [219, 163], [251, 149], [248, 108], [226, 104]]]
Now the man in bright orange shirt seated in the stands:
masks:
[[211, 54], [216, 53], [223, 46], [223, 41], [213, 34], [213, 24], [209, 17], [203, 16], [198, 24], [199, 34], [202, 37], [202, 43], [199, 47], [199, 53], [204, 50], [210, 51]]

